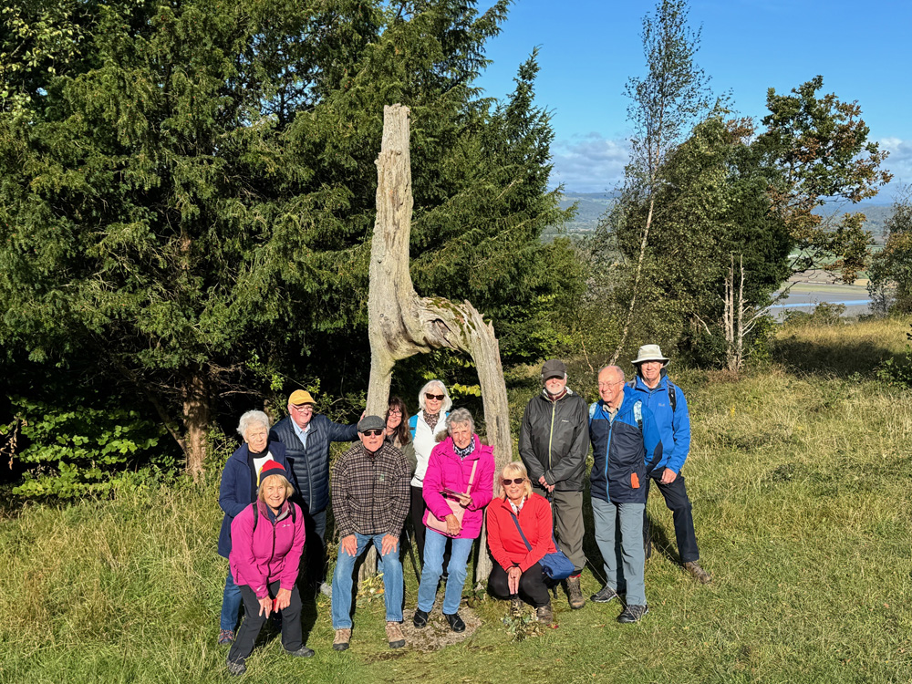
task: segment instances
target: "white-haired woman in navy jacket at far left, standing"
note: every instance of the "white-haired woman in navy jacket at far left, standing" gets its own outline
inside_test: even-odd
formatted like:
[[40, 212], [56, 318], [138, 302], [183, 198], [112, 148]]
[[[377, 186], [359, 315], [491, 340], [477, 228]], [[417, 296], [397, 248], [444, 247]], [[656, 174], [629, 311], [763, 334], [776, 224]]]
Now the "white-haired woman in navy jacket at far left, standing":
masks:
[[[231, 523], [234, 516], [256, 501], [257, 473], [266, 461], [275, 461], [285, 468], [288, 479], [296, 489], [295, 476], [285, 458], [285, 444], [269, 440], [269, 426], [269, 416], [256, 410], [247, 411], [238, 422], [237, 432], [244, 439], [244, 444], [225, 463], [219, 485], [219, 506], [225, 513], [219, 533], [219, 555], [223, 558], [228, 558], [231, 554]], [[222, 596], [218, 640], [220, 646], [231, 644], [234, 640], [241, 602], [241, 589], [234, 583], [229, 568]]]

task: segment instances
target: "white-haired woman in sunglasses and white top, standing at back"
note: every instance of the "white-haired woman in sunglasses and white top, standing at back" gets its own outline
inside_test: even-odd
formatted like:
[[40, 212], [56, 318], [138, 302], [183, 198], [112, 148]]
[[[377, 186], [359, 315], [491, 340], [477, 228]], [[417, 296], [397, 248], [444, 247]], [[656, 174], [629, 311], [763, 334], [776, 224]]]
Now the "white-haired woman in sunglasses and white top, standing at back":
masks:
[[[424, 566], [424, 475], [428, 472], [430, 452], [437, 446], [438, 436], [446, 433], [446, 418], [453, 405], [450, 393], [440, 380], [430, 380], [418, 393], [419, 411], [409, 419], [411, 439], [415, 444], [415, 474], [411, 478], [411, 508], [409, 515], [415, 528], [415, 545]], [[444, 561], [449, 561], [447, 553]], [[444, 563], [444, 567], [447, 564]]]

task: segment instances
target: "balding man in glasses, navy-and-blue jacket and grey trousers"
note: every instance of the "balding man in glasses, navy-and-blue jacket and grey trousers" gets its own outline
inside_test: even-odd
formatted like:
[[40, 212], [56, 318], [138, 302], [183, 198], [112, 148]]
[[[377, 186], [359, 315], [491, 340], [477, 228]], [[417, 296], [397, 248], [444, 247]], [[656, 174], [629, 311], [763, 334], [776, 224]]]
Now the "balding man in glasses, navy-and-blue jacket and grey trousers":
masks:
[[590, 482], [596, 544], [605, 561], [607, 582], [591, 600], [607, 603], [618, 592], [626, 593], [627, 606], [617, 621], [637, 622], [649, 611], [643, 549], [645, 485], [662, 459], [662, 440], [652, 411], [633, 388], [625, 386], [620, 368], [606, 366], [599, 371], [598, 394], [601, 399], [589, 407]]

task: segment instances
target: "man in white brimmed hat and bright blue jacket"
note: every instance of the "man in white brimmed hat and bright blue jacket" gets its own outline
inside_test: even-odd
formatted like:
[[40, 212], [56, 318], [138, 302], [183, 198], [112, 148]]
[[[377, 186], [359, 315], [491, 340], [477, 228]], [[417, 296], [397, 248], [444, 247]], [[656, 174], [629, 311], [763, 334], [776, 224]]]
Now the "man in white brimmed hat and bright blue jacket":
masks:
[[[672, 513], [681, 563], [694, 579], [706, 585], [712, 581], [712, 577], [700, 566], [693, 513], [687, 487], [684, 485], [684, 475], [681, 474], [690, 451], [690, 416], [684, 392], [666, 374], [668, 360], [658, 345], [639, 347], [637, 358], [633, 360], [637, 378], [632, 385], [637, 397], [643, 400], [656, 417], [658, 431], [662, 435], [662, 461], [652, 472], [652, 479], [656, 481], [658, 491], [662, 492], [665, 505]], [[648, 496], [649, 481], [646, 482], [646, 493]], [[649, 522], [645, 518], [643, 534], [648, 548]]]

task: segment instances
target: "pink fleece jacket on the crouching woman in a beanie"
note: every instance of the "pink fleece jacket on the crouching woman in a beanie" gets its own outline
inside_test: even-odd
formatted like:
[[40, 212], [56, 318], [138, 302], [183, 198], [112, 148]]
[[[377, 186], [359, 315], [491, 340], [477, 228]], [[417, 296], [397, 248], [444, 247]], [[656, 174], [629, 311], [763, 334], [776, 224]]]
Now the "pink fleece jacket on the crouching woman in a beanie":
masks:
[[[259, 516], [255, 530], [254, 505]], [[304, 536], [304, 515], [296, 503], [282, 504], [275, 524], [262, 501], [247, 506], [231, 523], [228, 564], [234, 584], [249, 586], [257, 598], [269, 596], [267, 587], [275, 580], [283, 589], [294, 588]]]

